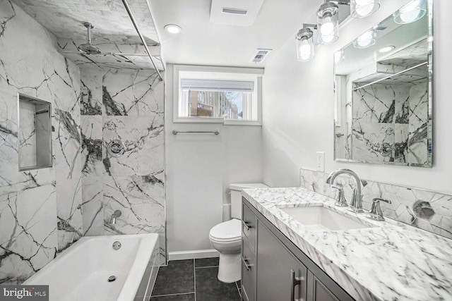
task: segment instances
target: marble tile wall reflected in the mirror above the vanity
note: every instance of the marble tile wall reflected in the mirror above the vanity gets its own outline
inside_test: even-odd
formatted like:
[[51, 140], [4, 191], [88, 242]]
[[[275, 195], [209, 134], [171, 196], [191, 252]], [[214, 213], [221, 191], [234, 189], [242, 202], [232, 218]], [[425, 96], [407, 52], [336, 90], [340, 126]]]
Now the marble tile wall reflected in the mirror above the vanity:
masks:
[[374, 84], [353, 92], [348, 158], [427, 164], [428, 82]]

